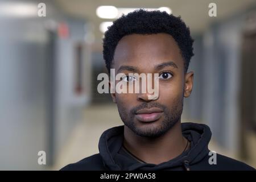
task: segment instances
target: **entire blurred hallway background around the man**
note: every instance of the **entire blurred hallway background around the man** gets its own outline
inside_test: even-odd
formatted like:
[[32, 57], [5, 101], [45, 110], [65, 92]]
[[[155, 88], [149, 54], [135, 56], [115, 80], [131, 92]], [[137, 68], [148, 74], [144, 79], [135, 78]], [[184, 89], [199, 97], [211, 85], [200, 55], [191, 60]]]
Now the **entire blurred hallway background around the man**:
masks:
[[102, 132], [122, 125], [97, 92], [104, 31], [122, 13], [160, 7], [195, 39], [182, 121], [207, 124], [210, 150], [256, 168], [256, 1], [0, 0], [0, 169], [58, 170], [98, 152]]

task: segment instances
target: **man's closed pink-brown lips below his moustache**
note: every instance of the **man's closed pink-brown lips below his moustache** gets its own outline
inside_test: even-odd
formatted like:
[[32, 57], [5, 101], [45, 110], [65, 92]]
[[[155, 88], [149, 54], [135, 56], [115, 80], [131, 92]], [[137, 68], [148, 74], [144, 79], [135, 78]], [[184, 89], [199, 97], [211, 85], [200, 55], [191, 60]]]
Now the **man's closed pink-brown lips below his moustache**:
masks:
[[150, 109], [141, 109], [135, 113], [135, 118], [141, 122], [154, 122], [158, 120], [163, 114], [163, 110], [157, 107]]

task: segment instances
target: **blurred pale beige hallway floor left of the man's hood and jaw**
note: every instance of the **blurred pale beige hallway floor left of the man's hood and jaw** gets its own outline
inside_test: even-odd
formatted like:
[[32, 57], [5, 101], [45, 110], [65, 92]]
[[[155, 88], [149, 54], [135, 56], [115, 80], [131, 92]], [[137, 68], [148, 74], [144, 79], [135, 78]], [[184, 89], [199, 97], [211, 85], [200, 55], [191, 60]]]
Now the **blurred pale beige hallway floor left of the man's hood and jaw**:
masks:
[[84, 111], [84, 120], [76, 125], [65, 146], [50, 169], [58, 170], [69, 163], [98, 153], [98, 140], [103, 131], [122, 125], [114, 104], [89, 106]]

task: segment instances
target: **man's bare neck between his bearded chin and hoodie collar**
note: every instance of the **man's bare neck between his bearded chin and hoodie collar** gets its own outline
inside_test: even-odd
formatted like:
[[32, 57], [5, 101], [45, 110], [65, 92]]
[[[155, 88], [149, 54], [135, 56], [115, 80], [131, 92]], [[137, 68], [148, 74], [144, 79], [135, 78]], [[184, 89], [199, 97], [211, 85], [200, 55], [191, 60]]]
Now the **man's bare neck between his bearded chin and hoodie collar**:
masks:
[[141, 137], [125, 126], [123, 145], [144, 162], [160, 164], [179, 156], [187, 146], [187, 139], [181, 133], [180, 121], [157, 138]]

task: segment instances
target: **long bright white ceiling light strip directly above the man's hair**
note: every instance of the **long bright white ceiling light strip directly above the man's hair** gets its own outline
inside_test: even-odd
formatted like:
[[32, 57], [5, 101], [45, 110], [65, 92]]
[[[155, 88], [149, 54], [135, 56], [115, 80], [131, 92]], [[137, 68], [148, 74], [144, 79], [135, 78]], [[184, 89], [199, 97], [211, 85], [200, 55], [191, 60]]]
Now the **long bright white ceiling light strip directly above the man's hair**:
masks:
[[[127, 15], [128, 13], [131, 13], [135, 10], [140, 9], [138, 8], [125, 8], [125, 7], [115, 7], [115, 6], [99, 6], [96, 10], [96, 14], [100, 18], [105, 18], [105, 19], [115, 19], [119, 18], [120, 16]], [[159, 8], [143, 8], [144, 10], [147, 11], [166, 11], [166, 13], [171, 14], [172, 10], [170, 7], [159, 7]]]

